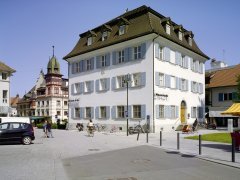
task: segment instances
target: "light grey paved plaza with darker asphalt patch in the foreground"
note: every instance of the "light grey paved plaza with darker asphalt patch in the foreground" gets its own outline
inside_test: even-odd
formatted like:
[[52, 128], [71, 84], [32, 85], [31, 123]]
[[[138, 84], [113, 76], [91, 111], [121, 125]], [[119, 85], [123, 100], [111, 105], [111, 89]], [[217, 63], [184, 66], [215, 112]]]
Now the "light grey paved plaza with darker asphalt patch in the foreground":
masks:
[[[209, 133], [203, 130], [198, 133]], [[214, 131], [216, 132], [216, 131]], [[94, 137], [76, 130], [53, 130], [54, 138], [43, 138], [35, 129], [30, 146], [0, 145], [0, 174], [6, 180], [140, 180], [140, 179], [239, 179], [240, 153], [231, 162], [231, 146], [185, 140], [180, 133], [126, 136], [124, 132], [96, 132]], [[195, 133], [197, 135], [197, 133]]]

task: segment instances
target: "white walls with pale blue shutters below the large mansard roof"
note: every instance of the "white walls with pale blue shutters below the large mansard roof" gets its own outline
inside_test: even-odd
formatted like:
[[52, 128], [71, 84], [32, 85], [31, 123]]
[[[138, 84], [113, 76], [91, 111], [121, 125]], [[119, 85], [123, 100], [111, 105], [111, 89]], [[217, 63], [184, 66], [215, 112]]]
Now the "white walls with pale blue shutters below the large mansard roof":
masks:
[[[163, 58], [159, 47], [163, 49]], [[134, 53], [137, 49], [140, 50], [139, 54]], [[128, 53], [131, 60], [115, 64], [115, 56], [117, 54], [116, 59], [121, 59], [119, 51], [122, 50], [125, 51], [125, 56]], [[99, 56], [105, 54], [109, 60], [107, 66], [98, 68]], [[133, 60], [138, 55], [140, 58]], [[90, 70], [73, 73], [73, 64], [83, 60], [94, 62], [92, 69], [92, 63], [86, 62], [83, 65], [86, 68], [89, 65]], [[202, 120], [205, 107], [205, 61], [206, 58], [165, 38], [156, 37], [156, 34], [69, 58], [69, 123], [87, 123], [87, 120], [92, 118], [94, 123], [109, 127], [115, 125], [126, 131], [126, 117], [118, 116], [122, 117], [120, 106], [124, 106], [126, 115], [127, 90], [126, 87], [119, 88], [119, 81], [120, 76], [127, 74], [131, 75], [132, 80], [128, 91], [129, 126], [138, 124], [139, 120], [144, 124], [147, 115], [150, 115], [153, 132], [176, 128], [181, 121], [191, 123], [196, 118]], [[99, 89], [102, 79], [106, 79], [104, 90]], [[134, 83], [138, 85], [132, 87]], [[163, 109], [160, 109], [160, 106]], [[102, 114], [102, 111], [106, 111], [106, 114]], [[91, 112], [91, 117], [88, 112]], [[104, 118], [101, 118], [101, 115]]]

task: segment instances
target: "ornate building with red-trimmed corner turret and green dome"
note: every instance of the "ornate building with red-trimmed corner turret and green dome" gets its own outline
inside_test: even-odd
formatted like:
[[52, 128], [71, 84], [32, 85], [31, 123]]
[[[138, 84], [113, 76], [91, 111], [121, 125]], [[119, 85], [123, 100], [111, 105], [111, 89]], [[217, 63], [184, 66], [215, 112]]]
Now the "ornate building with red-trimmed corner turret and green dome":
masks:
[[54, 55], [48, 62], [47, 74], [41, 70], [36, 85], [18, 103], [18, 115], [45, 117], [53, 122], [68, 118], [68, 79], [62, 78]]

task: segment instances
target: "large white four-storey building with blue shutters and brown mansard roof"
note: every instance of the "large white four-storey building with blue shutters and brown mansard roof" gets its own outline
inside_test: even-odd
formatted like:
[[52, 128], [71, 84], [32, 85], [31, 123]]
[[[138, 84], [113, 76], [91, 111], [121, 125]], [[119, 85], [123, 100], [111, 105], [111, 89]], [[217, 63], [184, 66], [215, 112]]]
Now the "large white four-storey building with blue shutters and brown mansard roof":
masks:
[[[146, 122], [152, 132], [202, 121], [205, 61], [193, 33], [141, 6], [90, 31], [64, 57], [69, 65], [69, 123]], [[131, 79], [128, 91], [126, 75]], [[148, 116], [148, 117], [149, 117]]]

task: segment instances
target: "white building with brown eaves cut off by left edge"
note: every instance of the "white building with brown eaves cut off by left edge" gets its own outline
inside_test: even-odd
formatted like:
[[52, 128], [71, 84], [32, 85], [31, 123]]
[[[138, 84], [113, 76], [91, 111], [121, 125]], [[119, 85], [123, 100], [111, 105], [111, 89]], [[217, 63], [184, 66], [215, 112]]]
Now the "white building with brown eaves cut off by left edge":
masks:
[[16, 71], [0, 61], [0, 116], [9, 116], [10, 76]]

